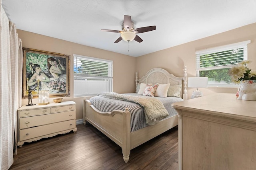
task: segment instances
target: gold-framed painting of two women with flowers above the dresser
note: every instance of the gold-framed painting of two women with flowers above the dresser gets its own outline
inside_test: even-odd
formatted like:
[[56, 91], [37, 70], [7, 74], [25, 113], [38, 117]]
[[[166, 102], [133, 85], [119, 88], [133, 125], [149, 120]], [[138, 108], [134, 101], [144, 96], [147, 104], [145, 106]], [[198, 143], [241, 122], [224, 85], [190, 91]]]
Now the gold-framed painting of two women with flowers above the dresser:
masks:
[[70, 96], [70, 55], [23, 48], [22, 98], [48, 90], [50, 97]]

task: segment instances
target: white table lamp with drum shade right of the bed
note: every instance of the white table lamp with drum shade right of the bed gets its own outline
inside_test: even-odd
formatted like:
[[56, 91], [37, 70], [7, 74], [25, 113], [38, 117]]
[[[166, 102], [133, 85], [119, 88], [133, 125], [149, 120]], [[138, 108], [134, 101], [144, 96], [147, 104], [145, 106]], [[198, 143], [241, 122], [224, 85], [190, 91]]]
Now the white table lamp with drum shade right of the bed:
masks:
[[203, 94], [198, 90], [198, 88], [207, 88], [208, 77], [188, 77], [188, 87], [196, 88], [196, 91], [192, 93], [191, 98], [202, 97]]

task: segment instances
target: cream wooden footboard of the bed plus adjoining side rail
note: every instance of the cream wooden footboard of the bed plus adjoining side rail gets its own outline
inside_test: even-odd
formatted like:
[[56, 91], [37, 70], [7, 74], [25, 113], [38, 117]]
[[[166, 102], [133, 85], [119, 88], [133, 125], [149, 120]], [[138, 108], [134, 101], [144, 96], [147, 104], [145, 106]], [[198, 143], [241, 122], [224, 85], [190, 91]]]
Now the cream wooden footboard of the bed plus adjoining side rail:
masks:
[[125, 111], [101, 112], [84, 98], [84, 124], [88, 121], [119, 145], [126, 163], [130, 158], [131, 149], [178, 125], [178, 116], [175, 115], [156, 123], [156, 125], [144, 127], [131, 133], [130, 114], [128, 108]]

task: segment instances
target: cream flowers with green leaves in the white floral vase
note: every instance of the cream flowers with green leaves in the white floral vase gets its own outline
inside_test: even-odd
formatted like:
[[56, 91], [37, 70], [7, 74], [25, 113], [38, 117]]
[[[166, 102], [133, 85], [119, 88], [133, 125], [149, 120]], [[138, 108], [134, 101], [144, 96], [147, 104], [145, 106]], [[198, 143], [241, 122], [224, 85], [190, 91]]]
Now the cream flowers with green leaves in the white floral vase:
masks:
[[249, 69], [247, 64], [250, 64], [250, 61], [245, 60], [230, 68], [228, 74], [232, 82], [239, 84], [244, 80], [256, 80], [256, 72]]

